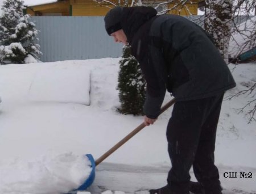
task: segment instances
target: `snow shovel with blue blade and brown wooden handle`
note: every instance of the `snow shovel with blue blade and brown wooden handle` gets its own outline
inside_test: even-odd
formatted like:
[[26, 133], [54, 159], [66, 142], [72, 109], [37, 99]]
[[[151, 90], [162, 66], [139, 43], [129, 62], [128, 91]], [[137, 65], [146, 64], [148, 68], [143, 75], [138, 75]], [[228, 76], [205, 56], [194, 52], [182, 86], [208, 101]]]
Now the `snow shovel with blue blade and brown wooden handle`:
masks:
[[[172, 104], [175, 103], [175, 99], [170, 100], [170, 102], [166, 103], [160, 111], [160, 114], [162, 114], [164, 111], [166, 111], [169, 107], [172, 106]], [[90, 175], [88, 179], [85, 180], [85, 182], [77, 188], [75, 191], [85, 191], [94, 181], [95, 178], [95, 167], [100, 164], [104, 159], [109, 157], [110, 154], [112, 154], [115, 150], [117, 150], [119, 147], [121, 147], [123, 144], [125, 144], [130, 138], [135, 136], [139, 131], [141, 131], [146, 125], [144, 123], [140, 124], [135, 128], [132, 132], [130, 132], [126, 137], [124, 137], [121, 141], [119, 141], [117, 144], [115, 144], [111, 149], [109, 149], [105, 154], [103, 154], [100, 158], [98, 158], [96, 161], [94, 161], [94, 158], [91, 154], [86, 154], [86, 157], [88, 157], [89, 161], [92, 163], [92, 171], [90, 172]]]

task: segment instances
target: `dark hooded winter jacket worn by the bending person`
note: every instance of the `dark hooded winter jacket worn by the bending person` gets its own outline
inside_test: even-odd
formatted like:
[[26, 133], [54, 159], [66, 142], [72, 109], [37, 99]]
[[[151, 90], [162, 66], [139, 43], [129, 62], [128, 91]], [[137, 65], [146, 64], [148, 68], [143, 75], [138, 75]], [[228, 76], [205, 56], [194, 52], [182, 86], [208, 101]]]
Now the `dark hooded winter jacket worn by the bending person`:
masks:
[[121, 26], [147, 82], [147, 117], [158, 117], [166, 89], [182, 101], [208, 98], [236, 86], [207, 33], [188, 19], [156, 16], [152, 7], [125, 7]]

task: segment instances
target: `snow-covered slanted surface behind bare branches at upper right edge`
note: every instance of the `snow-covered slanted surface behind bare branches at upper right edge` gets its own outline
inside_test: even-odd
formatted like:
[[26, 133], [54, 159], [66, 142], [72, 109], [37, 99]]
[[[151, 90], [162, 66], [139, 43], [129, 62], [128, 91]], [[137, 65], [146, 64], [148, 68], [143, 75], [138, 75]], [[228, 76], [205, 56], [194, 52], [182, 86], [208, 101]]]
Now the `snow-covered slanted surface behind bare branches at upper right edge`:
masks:
[[250, 44], [251, 41], [249, 41], [249, 37], [256, 31], [255, 23], [256, 16], [253, 16], [237, 27], [240, 33], [232, 33], [229, 41], [229, 56], [231, 58], [236, 58], [255, 47], [255, 44]]

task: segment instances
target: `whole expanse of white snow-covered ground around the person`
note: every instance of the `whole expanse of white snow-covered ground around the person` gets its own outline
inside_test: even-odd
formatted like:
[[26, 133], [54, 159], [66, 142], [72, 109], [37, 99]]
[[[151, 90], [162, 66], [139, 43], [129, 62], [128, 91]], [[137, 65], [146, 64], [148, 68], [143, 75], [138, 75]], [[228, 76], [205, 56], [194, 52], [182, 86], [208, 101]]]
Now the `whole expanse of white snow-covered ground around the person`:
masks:
[[[0, 193], [55, 194], [77, 188], [88, 175], [84, 154], [99, 158], [142, 123], [142, 116], [115, 111], [118, 61], [0, 66]], [[255, 83], [256, 64], [229, 68], [237, 87], [226, 96]], [[256, 193], [256, 123], [247, 124], [246, 112], [237, 114], [251, 98], [239, 96], [222, 106], [216, 165], [224, 194]], [[167, 94], [164, 101], [170, 99]], [[88, 192], [142, 194], [165, 185], [170, 115], [171, 108], [98, 165]], [[225, 172], [238, 177], [225, 178]], [[252, 178], [240, 178], [240, 172], [251, 172]]]

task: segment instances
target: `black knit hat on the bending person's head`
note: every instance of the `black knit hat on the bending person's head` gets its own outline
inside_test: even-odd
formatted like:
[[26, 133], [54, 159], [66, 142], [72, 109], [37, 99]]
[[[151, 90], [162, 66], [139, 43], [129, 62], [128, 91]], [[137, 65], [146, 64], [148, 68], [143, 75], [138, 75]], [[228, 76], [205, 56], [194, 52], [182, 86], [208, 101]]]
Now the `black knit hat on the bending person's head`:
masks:
[[121, 16], [122, 16], [122, 7], [119, 7], [119, 6], [109, 10], [109, 12], [106, 14], [104, 21], [105, 21], [105, 28], [109, 36], [113, 32], [116, 32], [119, 29], [122, 29]]

